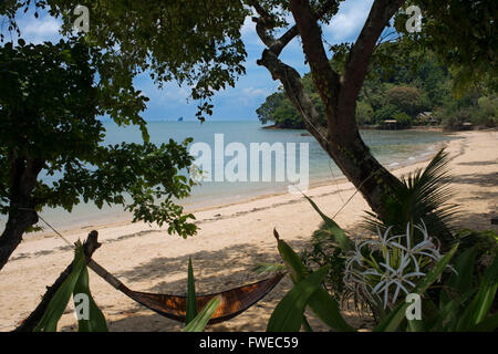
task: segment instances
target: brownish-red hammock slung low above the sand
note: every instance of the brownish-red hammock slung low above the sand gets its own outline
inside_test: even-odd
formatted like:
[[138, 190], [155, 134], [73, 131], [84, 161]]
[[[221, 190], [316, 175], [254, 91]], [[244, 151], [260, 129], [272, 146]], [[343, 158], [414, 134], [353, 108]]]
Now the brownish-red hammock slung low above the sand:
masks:
[[[133, 291], [94, 260], [91, 259], [89, 261], [89, 267], [107, 283], [126, 294], [132, 300], [165, 317], [185, 322], [187, 296]], [[197, 309], [200, 311], [212, 298], [219, 296], [221, 302], [208, 323], [214, 324], [230, 320], [261, 300], [279, 283], [282, 277], [282, 273], [278, 273], [272, 278], [264, 279], [256, 283], [219, 293], [197, 296]]]

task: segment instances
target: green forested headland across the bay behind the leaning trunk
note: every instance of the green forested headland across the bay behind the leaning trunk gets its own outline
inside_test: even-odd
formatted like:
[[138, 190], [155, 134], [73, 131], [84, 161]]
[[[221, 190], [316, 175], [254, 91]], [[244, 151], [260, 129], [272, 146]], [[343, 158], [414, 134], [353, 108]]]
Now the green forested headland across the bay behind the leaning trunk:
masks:
[[[489, 83], [481, 82], [457, 94], [453, 91], [455, 75], [432, 52], [407, 55], [405, 43], [383, 43], [372, 58], [371, 70], [356, 101], [356, 122], [363, 126], [378, 126], [395, 119], [401, 126], [442, 123], [458, 129], [464, 123], [492, 127], [498, 124], [498, 101]], [[390, 55], [388, 60], [385, 58]], [[376, 55], [376, 56], [375, 56]], [[341, 67], [341, 53], [331, 64]], [[305, 74], [303, 85], [315, 108], [323, 115], [312, 77]], [[430, 113], [424, 115], [421, 113]], [[303, 128], [299, 112], [279, 88], [256, 111], [260, 122], [274, 123], [281, 128]], [[432, 116], [432, 121], [429, 117]]]

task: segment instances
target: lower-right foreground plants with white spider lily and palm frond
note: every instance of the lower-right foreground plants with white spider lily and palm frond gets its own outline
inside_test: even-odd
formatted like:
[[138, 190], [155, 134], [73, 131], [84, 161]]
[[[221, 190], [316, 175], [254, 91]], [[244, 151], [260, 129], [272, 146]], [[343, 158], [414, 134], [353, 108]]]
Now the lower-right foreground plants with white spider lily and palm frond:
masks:
[[[354, 243], [305, 197], [323, 223], [301, 257], [274, 231], [294, 288], [273, 311], [268, 331], [309, 331], [307, 306], [331, 329], [352, 331], [339, 310], [351, 298], [374, 319], [373, 331], [496, 330], [498, 235], [449, 227], [455, 208], [447, 205], [447, 162], [440, 150], [424, 170], [405, 177], [385, 202], [387, 218], [369, 216], [365, 231], [374, 236]], [[405, 316], [409, 294], [422, 296], [422, 319]]]

